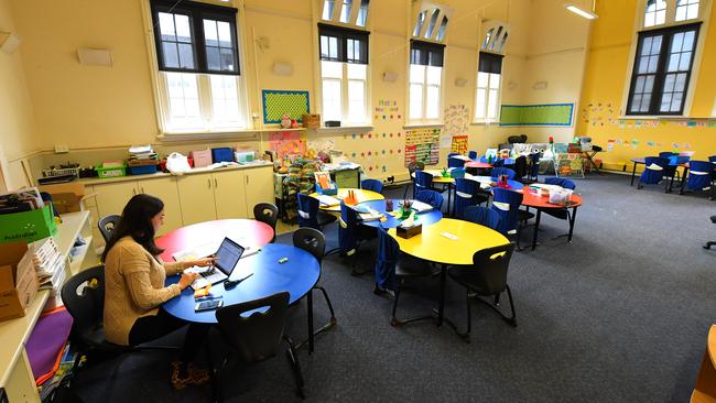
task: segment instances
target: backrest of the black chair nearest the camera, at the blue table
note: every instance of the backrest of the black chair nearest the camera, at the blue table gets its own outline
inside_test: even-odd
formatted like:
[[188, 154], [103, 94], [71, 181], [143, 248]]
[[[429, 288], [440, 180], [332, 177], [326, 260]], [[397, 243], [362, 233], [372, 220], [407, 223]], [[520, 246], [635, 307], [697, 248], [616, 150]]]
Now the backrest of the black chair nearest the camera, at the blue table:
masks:
[[[249, 316], [241, 316], [249, 311]], [[289, 293], [281, 292], [263, 298], [229, 305], [216, 311], [216, 319], [224, 339], [238, 358], [246, 362], [258, 362], [275, 356], [283, 338], [283, 327], [289, 313]]]

